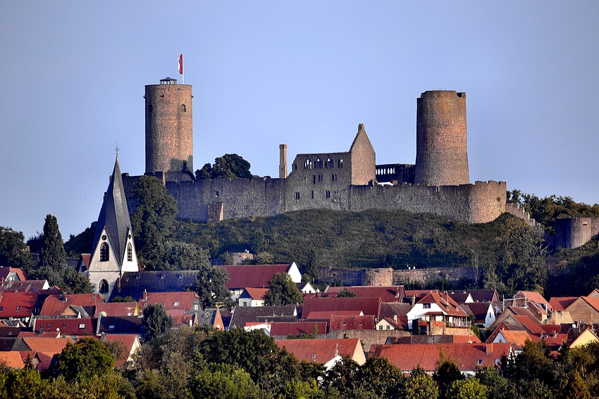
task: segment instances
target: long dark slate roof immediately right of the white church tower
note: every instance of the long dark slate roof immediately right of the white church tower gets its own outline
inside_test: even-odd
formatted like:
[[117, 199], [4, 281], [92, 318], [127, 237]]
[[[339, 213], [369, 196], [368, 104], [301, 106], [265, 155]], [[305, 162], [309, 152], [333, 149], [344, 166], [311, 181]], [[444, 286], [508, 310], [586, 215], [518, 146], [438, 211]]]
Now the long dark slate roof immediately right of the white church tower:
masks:
[[121, 278], [121, 289], [112, 290], [110, 300], [116, 296], [131, 296], [137, 301], [147, 292], [180, 292], [190, 286], [197, 276], [197, 270], [160, 270], [125, 272]]

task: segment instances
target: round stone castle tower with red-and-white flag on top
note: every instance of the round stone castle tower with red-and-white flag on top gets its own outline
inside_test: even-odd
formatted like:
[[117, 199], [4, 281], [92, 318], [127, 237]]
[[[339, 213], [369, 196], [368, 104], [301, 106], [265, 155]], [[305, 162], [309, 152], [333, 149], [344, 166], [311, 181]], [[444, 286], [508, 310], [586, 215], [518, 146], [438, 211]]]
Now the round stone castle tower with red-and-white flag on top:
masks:
[[146, 86], [146, 173], [193, 172], [192, 87], [166, 77]]

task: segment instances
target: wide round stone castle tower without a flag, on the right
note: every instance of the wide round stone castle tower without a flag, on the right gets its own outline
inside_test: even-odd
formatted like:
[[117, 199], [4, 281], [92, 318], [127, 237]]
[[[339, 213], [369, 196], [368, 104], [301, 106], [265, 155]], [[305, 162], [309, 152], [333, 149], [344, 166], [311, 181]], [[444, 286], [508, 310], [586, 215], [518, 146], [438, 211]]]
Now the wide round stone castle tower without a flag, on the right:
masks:
[[416, 100], [414, 183], [469, 184], [466, 93], [425, 91]]

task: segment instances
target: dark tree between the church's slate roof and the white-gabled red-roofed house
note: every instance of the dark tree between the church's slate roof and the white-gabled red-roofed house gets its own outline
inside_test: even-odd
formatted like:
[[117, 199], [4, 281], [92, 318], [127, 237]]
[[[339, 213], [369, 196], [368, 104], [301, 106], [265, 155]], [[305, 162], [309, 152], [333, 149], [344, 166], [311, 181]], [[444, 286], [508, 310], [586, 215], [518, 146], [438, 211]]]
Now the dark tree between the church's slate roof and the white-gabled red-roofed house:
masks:
[[231, 305], [231, 293], [225, 286], [229, 273], [223, 267], [214, 267], [210, 262], [199, 266], [197, 276], [190, 289], [197, 293], [202, 307], [214, 308], [216, 305]]

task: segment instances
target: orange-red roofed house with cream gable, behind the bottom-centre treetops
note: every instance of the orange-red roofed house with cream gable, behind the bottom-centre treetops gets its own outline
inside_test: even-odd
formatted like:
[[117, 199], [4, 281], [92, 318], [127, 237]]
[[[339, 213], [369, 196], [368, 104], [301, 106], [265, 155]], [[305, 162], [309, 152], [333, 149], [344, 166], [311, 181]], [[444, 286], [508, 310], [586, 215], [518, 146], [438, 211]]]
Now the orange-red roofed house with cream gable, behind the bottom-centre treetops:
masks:
[[275, 341], [280, 348], [293, 353], [297, 360], [316, 362], [331, 369], [343, 356], [349, 356], [359, 365], [364, 365], [366, 356], [359, 338], [345, 339], [281, 339]]

